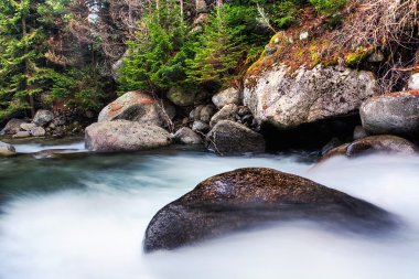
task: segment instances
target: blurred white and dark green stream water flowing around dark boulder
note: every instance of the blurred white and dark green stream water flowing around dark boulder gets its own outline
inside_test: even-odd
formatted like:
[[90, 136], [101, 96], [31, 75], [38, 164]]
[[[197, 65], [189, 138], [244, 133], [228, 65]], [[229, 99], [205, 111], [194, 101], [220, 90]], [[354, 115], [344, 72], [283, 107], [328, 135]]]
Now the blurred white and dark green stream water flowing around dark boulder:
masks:
[[[82, 148], [83, 143], [61, 148]], [[17, 146], [21, 152], [42, 144]], [[312, 179], [398, 215], [385, 236], [325, 230], [304, 221], [174, 251], [143, 255], [154, 213], [200, 181], [241, 167]], [[166, 149], [76, 158], [0, 159], [1, 279], [419, 278], [419, 158], [302, 154], [219, 158]]]

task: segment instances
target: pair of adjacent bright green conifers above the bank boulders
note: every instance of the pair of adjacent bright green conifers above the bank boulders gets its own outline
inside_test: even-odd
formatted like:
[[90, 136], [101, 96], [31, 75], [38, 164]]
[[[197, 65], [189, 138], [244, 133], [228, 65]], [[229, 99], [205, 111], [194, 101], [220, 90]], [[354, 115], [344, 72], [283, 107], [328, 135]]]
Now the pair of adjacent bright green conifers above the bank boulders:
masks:
[[245, 6], [224, 4], [211, 13], [202, 32], [191, 29], [176, 2], [164, 2], [146, 17], [136, 40], [128, 43], [119, 92], [218, 88], [237, 78], [266, 41], [256, 10]]

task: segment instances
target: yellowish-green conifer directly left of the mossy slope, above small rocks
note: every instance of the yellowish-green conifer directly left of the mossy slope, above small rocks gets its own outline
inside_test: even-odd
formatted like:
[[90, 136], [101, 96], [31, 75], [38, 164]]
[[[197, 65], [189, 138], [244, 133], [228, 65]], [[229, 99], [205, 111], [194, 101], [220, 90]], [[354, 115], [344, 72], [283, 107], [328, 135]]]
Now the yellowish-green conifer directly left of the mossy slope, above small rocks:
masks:
[[[237, 77], [237, 68], [246, 58], [251, 13], [240, 7], [223, 6], [210, 17], [210, 22], [195, 43], [195, 56], [187, 60], [187, 79], [192, 84], [223, 86]], [[250, 23], [250, 24], [248, 24]]]

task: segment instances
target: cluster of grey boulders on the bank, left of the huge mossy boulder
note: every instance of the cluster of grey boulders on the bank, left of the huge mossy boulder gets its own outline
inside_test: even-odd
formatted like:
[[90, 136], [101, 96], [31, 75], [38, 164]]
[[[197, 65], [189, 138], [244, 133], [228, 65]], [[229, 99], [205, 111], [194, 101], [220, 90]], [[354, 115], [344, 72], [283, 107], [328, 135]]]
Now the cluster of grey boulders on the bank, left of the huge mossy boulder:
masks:
[[[170, 99], [179, 107], [202, 101], [205, 95], [191, 97], [175, 89], [171, 92]], [[174, 142], [205, 143], [219, 154], [265, 151], [264, 136], [257, 132], [258, 125], [250, 110], [243, 106], [239, 89], [227, 88], [214, 95], [210, 104], [196, 105], [182, 120], [183, 125], [173, 130], [175, 116], [171, 103], [148, 93], [128, 92], [100, 111], [98, 122], [86, 128], [86, 148], [104, 152], [135, 151]]]

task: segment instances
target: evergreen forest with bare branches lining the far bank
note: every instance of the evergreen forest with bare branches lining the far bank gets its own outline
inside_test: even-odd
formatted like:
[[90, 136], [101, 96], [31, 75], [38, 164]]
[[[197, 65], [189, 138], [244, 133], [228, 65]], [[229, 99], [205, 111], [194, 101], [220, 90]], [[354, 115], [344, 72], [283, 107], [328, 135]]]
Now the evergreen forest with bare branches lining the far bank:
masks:
[[[0, 0], [0, 122], [128, 90], [158, 96], [239, 85], [302, 8], [339, 24], [345, 0]], [[200, 17], [201, 14], [201, 17]]]

